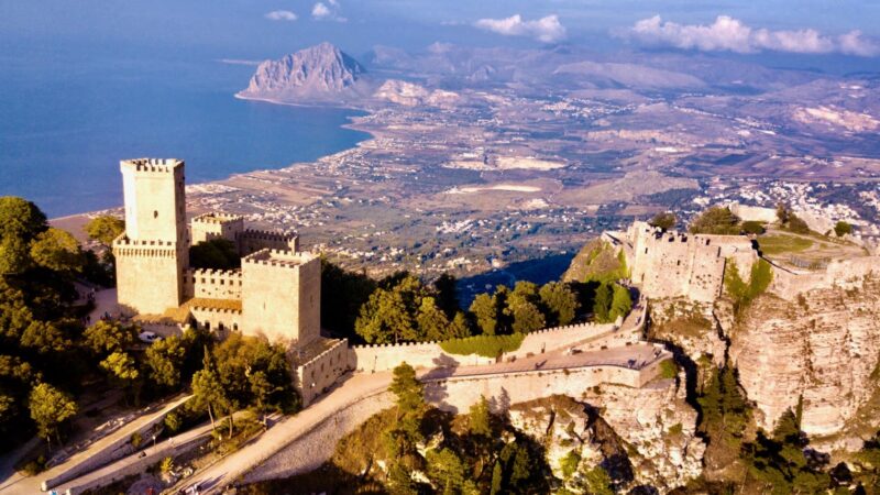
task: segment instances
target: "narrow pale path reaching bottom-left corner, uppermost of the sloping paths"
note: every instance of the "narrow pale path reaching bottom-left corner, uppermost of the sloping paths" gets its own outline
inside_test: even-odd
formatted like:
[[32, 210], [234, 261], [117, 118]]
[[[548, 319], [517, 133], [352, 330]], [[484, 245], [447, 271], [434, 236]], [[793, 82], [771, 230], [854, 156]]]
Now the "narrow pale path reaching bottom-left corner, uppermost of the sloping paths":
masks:
[[76, 469], [80, 464], [86, 463], [87, 461], [91, 460], [94, 455], [97, 455], [105, 450], [112, 448], [114, 444], [128, 440], [131, 438], [132, 433], [135, 431], [141, 430], [146, 425], [150, 425], [153, 421], [156, 421], [158, 418], [165, 416], [169, 410], [174, 409], [175, 407], [179, 406], [180, 404], [185, 403], [189, 399], [189, 395], [177, 397], [158, 409], [154, 409], [147, 414], [144, 414], [136, 419], [132, 420], [128, 425], [119, 428], [118, 430], [113, 431], [112, 433], [97, 440], [96, 442], [89, 444], [84, 450], [74, 453], [67, 460], [51, 468], [47, 471], [44, 471], [36, 476], [21, 476], [18, 473], [14, 473], [13, 476], [4, 480], [2, 484], [0, 484], [0, 494], [3, 495], [34, 495], [41, 493], [41, 484], [45, 480], [52, 480], [57, 476], [61, 476], [70, 470]]

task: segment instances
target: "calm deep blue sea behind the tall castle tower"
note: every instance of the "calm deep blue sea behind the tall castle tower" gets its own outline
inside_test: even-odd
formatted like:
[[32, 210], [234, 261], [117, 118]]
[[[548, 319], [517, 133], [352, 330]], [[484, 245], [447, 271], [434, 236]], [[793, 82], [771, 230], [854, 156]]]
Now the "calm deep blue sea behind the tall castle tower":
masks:
[[239, 100], [253, 65], [204, 56], [0, 54], [0, 196], [51, 218], [119, 206], [119, 161], [186, 161], [189, 184], [354, 146], [352, 110]]

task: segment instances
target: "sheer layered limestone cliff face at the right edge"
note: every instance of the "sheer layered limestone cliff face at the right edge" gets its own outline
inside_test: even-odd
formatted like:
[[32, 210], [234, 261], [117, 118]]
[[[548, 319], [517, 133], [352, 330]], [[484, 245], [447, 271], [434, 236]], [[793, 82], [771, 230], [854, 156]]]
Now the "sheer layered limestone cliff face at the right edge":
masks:
[[765, 295], [752, 302], [732, 332], [730, 358], [761, 413], [759, 426], [772, 428], [799, 397], [811, 436], [840, 433], [858, 419], [878, 386], [878, 316], [877, 277], [809, 290], [795, 301]]

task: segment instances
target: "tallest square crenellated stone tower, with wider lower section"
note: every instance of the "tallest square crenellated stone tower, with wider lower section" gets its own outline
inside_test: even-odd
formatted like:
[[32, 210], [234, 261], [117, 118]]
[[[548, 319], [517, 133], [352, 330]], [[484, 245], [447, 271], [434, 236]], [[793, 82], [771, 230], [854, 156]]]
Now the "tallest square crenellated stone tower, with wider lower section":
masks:
[[162, 314], [184, 297], [189, 261], [184, 162], [120, 162], [125, 233], [113, 241], [117, 296], [125, 312]]

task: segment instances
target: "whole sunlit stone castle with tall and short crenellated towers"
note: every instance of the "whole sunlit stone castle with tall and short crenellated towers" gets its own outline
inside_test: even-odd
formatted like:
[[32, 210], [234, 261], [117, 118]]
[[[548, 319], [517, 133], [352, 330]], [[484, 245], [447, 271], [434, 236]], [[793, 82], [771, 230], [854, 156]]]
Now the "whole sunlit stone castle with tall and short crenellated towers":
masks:
[[[306, 404], [348, 367], [346, 342], [320, 334], [320, 258], [299, 251], [296, 234], [246, 229], [241, 217], [222, 213], [195, 217], [187, 228], [183, 161], [127, 160], [120, 168], [125, 232], [113, 254], [122, 312], [283, 342]], [[235, 245], [240, 270], [189, 266], [189, 248], [213, 239]]]

